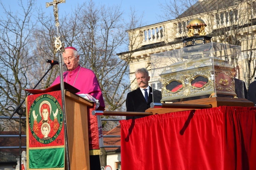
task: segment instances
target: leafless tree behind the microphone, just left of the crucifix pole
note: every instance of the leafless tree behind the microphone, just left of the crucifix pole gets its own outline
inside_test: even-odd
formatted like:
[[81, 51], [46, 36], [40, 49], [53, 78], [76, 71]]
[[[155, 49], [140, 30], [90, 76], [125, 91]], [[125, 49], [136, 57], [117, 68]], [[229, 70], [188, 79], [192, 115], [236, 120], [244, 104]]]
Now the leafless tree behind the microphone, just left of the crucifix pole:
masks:
[[[51, 11], [52, 12], [52, 11]], [[51, 66], [46, 64], [46, 60], [56, 60], [58, 61], [58, 56], [54, 52], [54, 38], [57, 37], [57, 28], [55, 27], [54, 16], [47, 15], [42, 11], [41, 8], [37, 9], [37, 25], [33, 29], [32, 37], [35, 40], [33, 43], [33, 54], [37, 57], [37, 63], [29, 71], [30, 76], [30, 86], [34, 87], [44, 73]], [[37, 89], [45, 89], [51, 86], [52, 82], [59, 75], [59, 67], [53, 67], [47, 74], [47, 76], [40, 82]]]

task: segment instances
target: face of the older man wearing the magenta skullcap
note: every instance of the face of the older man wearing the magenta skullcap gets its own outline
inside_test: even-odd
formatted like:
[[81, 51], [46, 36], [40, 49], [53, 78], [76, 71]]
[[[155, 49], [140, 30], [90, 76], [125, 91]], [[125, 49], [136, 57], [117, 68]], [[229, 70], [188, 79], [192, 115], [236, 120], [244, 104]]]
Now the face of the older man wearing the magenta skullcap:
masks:
[[73, 49], [66, 49], [65, 53], [62, 53], [63, 61], [69, 71], [74, 70], [79, 65], [79, 55], [74, 55]]

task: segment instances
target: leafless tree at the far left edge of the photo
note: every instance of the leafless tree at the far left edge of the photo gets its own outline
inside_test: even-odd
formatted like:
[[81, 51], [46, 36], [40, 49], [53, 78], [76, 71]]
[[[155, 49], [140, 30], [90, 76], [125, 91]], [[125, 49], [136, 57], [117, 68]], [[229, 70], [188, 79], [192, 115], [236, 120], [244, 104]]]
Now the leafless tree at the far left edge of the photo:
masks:
[[[27, 95], [24, 91], [29, 84], [27, 72], [35, 61], [30, 50], [34, 26], [31, 22], [33, 1], [27, 4], [19, 1], [21, 10], [16, 13], [12, 13], [2, 3], [1, 6], [4, 16], [0, 19], [0, 115], [11, 116]], [[25, 104], [22, 106], [24, 108]], [[25, 128], [25, 121], [22, 124]], [[4, 130], [18, 130], [15, 121], [4, 121], [0, 126]]]

